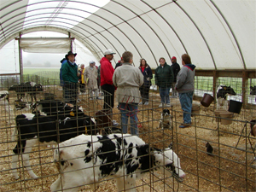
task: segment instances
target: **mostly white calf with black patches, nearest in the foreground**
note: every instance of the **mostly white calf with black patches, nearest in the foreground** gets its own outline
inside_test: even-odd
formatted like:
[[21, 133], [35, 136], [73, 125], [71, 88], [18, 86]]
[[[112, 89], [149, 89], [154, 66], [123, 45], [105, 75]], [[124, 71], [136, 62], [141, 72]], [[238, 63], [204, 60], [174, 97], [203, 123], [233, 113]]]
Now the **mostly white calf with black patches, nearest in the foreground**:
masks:
[[95, 190], [104, 177], [116, 179], [118, 191], [136, 191], [136, 179], [153, 169], [166, 176], [185, 177], [171, 148], [149, 148], [130, 134], [74, 137], [60, 143], [54, 160], [61, 175], [50, 186], [52, 191], [77, 191], [87, 184]]

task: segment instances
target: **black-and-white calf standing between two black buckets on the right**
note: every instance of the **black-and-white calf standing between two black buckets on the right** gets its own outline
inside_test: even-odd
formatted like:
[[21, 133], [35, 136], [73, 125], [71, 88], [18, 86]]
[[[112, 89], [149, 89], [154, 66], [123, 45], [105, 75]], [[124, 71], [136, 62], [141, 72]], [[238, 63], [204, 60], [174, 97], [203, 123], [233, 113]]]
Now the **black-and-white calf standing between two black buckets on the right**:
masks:
[[224, 110], [228, 110], [229, 108], [229, 104], [227, 101], [227, 96], [228, 95], [232, 95], [232, 96], [236, 96], [236, 92], [235, 90], [230, 87], [230, 86], [226, 86], [226, 85], [218, 85], [218, 89], [217, 89], [217, 109], [224, 109]]

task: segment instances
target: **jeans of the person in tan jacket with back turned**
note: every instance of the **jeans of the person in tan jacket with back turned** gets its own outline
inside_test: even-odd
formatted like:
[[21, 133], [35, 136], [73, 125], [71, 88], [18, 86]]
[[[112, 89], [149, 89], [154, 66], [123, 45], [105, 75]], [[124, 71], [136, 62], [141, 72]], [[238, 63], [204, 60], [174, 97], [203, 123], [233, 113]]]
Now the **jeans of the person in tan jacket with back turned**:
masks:
[[119, 109], [121, 112], [121, 126], [122, 132], [127, 133], [128, 118], [130, 117], [131, 135], [138, 135], [137, 128], [137, 103], [119, 102]]

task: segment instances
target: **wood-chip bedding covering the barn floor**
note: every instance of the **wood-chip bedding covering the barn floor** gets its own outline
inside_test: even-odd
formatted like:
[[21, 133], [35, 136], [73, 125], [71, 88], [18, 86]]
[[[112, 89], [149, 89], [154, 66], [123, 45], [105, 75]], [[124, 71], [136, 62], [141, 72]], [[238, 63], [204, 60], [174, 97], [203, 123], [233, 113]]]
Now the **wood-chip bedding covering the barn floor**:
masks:
[[[47, 86], [40, 93], [38, 99], [43, 99], [45, 92], [55, 94], [55, 99], [61, 99], [61, 87]], [[28, 113], [25, 109], [15, 110], [15, 93], [9, 94], [10, 108], [3, 104], [0, 122], [0, 190], [1, 191], [49, 191], [59, 172], [53, 160], [55, 146], [38, 144], [32, 148], [30, 162], [33, 172], [38, 179], [32, 179], [23, 166], [20, 157], [18, 162], [20, 178], [15, 180], [11, 174], [11, 160], [15, 143], [11, 141], [11, 133], [15, 128], [15, 116]], [[255, 119], [255, 109], [241, 109], [241, 113], [234, 114], [230, 125], [223, 125], [219, 117], [215, 116], [215, 104], [208, 108], [201, 106], [193, 114], [192, 125], [181, 129], [183, 112], [177, 99], [172, 99], [172, 129], [161, 129], [160, 114], [164, 108], [158, 108], [159, 95], [150, 94], [148, 106], [139, 106], [139, 132], [143, 141], [154, 148], [172, 149], [180, 158], [183, 172], [186, 173], [183, 182], [174, 177], [166, 177], [158, 171], [151, 170], [142, 179], [137, 180], [137, 191], [255, 191], [256, 189], [256, 160], [255, 137], [250, 134], [249, 121]], [[200, 105], [200, 102], [194, 101]], [[79, 104], [84, 113], [96, 117], [96, 112], [102, 110], [103, 100], [90, 100], [87, 92], [79, 95]], [[120, 125], [120, 113], [113, 108], [113, 119]], [[206, 143], [212, 145], [212, 155], [207, 154]], [[167, 171], [166, 171], [167, 172]], [[90, 190], [89, 185], [81, 186], [79, 191]], [[113, 179], [104, 178], [99, 183], [97, 191], [116, 191]]]

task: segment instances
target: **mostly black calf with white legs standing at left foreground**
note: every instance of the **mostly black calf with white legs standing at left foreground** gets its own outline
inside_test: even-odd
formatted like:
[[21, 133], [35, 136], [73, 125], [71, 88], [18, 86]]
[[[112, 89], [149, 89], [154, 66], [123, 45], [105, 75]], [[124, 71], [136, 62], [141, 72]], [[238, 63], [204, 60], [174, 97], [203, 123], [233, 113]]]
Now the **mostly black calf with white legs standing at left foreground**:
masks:
[[[67, 111], [67, 109], [66, 109]], [[95, 120], [79, 112], [79, 117], [75, 110], [70, 110], [69, 115], [44, 116], [39, 113], [24, 113], [16, 117], [16, 128], [12, 134], [12, 141], [17, 140], [13, 150], [13, 175], [19, 178], [16, 171], [19, 154], [22, 155], [24, 166], [32, 178], [38, 176], [32, 171], [29, 154], [32, 147], [39, 143], [53, 144], [61, 143], [80, 134], [95, 133]], [[18, 137], [17, 137], [18, 135]]]

